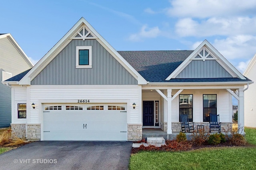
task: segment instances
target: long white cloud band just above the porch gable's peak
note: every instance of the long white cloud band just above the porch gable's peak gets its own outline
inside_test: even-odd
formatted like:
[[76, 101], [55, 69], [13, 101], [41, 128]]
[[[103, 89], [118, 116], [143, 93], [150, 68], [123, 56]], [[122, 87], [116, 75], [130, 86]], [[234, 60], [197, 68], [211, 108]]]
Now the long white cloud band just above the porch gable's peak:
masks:
[[178, 20], [175, 29], [181, 37], [255, 34], [256, 17], [209, 18], [200, 22], [192, 18], [183, 18]]

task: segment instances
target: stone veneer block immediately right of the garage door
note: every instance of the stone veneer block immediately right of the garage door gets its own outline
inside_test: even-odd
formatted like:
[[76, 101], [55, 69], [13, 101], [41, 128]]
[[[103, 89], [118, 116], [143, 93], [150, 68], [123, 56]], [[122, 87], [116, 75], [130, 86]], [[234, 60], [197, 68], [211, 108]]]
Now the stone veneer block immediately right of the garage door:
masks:
[[142, 139], [142, 124], [128, 124], [128, 141], [140, 141]]

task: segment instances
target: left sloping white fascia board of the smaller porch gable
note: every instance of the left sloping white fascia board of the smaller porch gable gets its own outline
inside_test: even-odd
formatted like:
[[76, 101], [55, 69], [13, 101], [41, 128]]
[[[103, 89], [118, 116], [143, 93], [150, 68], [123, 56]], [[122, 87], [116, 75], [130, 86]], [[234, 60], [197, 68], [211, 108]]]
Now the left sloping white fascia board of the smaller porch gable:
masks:
[[171, 78], [174, 78], [174, 76], [178, 73], [181, 72], [186, 65], [188, 65], [194, 55], [198, 53], [198, 51], [204, 47], [206, 40], [204, 40], [165, 80], [170, 80]]

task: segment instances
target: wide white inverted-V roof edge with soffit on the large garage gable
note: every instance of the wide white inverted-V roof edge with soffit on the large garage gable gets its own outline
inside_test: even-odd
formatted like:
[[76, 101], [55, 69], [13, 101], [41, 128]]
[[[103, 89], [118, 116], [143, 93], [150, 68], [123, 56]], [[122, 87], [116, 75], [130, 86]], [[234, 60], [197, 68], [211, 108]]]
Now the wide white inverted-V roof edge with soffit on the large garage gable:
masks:
[[[35, 78], [49, 63], [56, 57], [56, 55], [66, 47], [72, 39], [76, 38], [74, 35], [79, 33], [82, 27], [85, 27], [93, 34], [96, 39], [132, 76], [138, 80], [138, 84], [146, 84], [146, 80], [119, 54], [116, 50], [84, 19], [81, 18], [69, 31], [66, 33], [46, 55], [19, 81], [20, 85], [30, 85], [31, 80]], [[81, 35], [81, 34], [80, 34]]]

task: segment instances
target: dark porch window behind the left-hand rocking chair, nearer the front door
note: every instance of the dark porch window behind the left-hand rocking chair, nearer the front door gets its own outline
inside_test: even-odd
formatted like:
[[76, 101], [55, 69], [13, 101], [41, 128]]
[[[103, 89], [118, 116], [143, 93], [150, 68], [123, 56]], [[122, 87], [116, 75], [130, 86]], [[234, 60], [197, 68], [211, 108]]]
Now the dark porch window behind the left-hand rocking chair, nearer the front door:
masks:
[[180, 94], [180, 115], [188, 115], [188, 121], [193, 121], [192, 94]]

